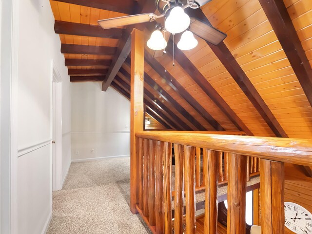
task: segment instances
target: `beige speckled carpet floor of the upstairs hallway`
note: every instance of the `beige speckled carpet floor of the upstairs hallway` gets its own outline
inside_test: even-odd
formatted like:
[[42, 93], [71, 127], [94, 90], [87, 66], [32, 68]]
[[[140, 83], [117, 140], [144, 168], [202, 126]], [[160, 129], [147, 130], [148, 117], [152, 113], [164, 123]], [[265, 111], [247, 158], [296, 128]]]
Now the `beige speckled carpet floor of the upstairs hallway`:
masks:
[[129, 201], [129, 157], [72, 163], [47, 234], [150, 234]]

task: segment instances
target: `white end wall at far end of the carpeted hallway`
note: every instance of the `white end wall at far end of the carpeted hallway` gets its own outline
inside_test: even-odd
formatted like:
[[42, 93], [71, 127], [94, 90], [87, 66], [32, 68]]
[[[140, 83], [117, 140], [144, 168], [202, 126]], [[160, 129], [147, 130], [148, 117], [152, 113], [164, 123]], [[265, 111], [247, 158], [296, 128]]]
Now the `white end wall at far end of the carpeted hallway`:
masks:
[[129, 154], [129, 100], [101, 82], [72, 83], [72, 160]]

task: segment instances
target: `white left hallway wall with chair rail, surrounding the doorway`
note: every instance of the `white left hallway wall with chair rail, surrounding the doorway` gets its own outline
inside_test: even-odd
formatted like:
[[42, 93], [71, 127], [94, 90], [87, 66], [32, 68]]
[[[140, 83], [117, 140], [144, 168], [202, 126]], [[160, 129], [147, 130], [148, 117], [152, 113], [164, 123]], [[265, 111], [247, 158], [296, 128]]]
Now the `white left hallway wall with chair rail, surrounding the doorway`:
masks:
[[20, 0], [19, 19], [18, 231], [41, 234], [52, 214], [52, 59], [63, 80], [63, 176], [70, 162], [70, 84], [49, 1]]

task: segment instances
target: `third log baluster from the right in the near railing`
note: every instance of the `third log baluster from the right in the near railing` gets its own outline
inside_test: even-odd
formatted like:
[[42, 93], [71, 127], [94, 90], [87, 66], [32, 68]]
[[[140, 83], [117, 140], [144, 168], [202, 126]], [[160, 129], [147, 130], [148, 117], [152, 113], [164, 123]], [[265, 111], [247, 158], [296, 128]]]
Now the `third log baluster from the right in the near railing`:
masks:
[[216, 234], [218, 214], [218, 158], [216, 151], [203, 149], [203, 171], [205, 171], [205, 234]]

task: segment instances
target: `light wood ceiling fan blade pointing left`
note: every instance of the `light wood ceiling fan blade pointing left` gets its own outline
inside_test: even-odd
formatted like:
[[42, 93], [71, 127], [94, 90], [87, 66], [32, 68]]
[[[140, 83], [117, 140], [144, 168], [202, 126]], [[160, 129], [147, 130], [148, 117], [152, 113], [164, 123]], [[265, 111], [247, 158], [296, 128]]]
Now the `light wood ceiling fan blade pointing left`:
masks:
[[154, 13], [146, 13], [132, 16], [122, 16], [106, 20], [98, 20], [98, 24], [104, 29], [110, 29], [130, 24], [152, 22], [160, 17], [163, 17], [163, 15], [157, 16]]

